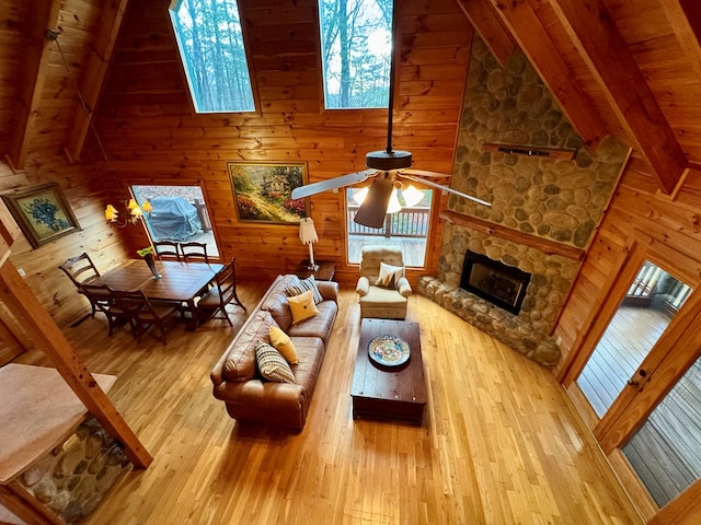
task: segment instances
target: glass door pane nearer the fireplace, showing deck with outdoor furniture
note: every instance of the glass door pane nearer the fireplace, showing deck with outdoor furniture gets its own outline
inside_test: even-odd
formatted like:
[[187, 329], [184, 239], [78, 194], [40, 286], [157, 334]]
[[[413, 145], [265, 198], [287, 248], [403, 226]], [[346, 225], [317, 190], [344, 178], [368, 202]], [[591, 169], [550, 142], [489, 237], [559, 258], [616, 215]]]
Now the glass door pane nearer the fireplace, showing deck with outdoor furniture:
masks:
[[645, 260], [576, 383], [599, 418], [625, 385], [691, 293], [691, 288]]

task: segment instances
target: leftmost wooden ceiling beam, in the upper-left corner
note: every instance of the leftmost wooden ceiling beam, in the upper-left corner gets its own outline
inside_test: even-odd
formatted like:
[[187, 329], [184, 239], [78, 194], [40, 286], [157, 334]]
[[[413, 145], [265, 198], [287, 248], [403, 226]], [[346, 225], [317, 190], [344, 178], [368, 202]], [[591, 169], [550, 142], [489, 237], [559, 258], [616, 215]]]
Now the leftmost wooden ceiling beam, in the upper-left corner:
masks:
[[60, 0], [37, 2], [30, 10], [24, 57], [15, 79], [20, 101], [14, 112], [12, 138], [8, 151], [10, 164], [18, 170], [23, 168], [26, 161], [48, 69], [50, 42], [46, 39], [46, 30], [56, 27], [61, 3]]

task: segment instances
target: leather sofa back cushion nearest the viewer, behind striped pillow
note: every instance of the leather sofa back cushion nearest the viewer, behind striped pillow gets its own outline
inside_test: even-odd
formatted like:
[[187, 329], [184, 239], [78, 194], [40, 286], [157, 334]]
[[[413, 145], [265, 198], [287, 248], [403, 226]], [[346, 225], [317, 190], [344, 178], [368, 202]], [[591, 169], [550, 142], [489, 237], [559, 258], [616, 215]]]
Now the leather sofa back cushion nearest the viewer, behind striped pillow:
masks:
[[221, 373], [225, 381], [239, 383], [256, 377], [255, 345], [266, 340], [271, 326], [275, 326], [275, 320], [269, 312], [262, 311], [245, 324], [229, 347]]

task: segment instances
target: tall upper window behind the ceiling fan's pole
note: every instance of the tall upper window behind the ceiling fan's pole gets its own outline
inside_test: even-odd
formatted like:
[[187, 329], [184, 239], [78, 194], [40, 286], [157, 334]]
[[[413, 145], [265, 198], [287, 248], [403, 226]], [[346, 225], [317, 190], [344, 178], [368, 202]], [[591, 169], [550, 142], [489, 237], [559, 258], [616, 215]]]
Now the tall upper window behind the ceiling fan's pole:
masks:
[[321, 0], [326, 109], [389, 104], [392, 0]]

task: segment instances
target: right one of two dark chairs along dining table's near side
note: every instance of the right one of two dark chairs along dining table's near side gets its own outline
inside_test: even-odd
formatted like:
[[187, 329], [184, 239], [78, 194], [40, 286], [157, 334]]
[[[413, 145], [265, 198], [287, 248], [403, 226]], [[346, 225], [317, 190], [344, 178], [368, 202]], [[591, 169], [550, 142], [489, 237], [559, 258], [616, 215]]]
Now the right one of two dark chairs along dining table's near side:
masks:
[[111, 294], [116, 304], [129, 316], [134, 327], [134, 336], [141, 342], [141, 336], [150, 326], [157, 326], [163, 345], [168, 343], [165, 327], [174, 325], [172, 322], [175, 313], [181, 314], [179, 303], [172, 301], [149, 301], [141, 290], [124, 291], [112, 290]]

